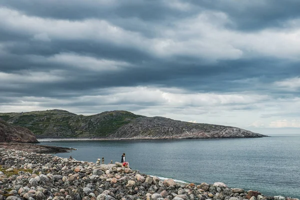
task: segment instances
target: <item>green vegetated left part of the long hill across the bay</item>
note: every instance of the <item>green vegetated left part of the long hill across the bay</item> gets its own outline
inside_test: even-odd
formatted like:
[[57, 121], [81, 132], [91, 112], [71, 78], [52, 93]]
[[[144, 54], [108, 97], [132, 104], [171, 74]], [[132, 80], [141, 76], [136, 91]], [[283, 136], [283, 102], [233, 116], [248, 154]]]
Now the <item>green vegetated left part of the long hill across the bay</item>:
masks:
[[65, 110], [53, 109], [20, 113], [0, 113], [0, 117], [13, 125], [27, 127], [35, 135], [102, 137], [116, 131], [132, 119], [143, 116], [122, 110], [106, 111], [84, 116]]

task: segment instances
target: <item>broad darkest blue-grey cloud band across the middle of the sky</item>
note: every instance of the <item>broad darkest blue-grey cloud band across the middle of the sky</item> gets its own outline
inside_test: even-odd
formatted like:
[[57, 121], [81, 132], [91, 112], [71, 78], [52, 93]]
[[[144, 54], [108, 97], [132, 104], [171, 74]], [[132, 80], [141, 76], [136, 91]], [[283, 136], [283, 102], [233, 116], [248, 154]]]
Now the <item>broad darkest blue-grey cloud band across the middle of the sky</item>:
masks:
[[[31, 52], [38, 52], [38, 50], [33, 49], [34, 46], [31, 47]], [[82, 48], [81, 46], [80, 49], [81, 51], [78, 52], [86, 53], [83, 50], [84, 47]], [[90, 54], [98, 55], [96, 49], [95, 51], [88, 49], [88, 51]], [[113, 53], [109, 54], [109, 51]], [[24, 69], [44, 72], [56, 69], [61, 70], [58, 75], [65, 78], [50, 82], [40, 81], [38, 84], [36, 82], [28, 82], [28, 79], [26, 79], [24, 82], [18, 83], [18, 86], [12, 84], [12, 80], [11, 84], [1, 85], [0, 88], [2, 91], [14, 91], [21, 95], [48, 97], [77, 96], [92, 93], [91, 90], [97, 88], [138, 85], [178, 87], [190, 92], [222, 93], [241, 92], [245, 90], [263, 92], [266, 89], [265, 85], [275, 80], [288, 78], [291, 71], [299, 70], [296, 65], [293, 66], [288, 62], [280, 62], [280, 60], [273, 59], [224, 60], [220, 63], [201, 64], [200, 61], [199, 63], [166, 62], [159, 59], [154, 60], [147, 56], [133, 56], [136, 54], [132, 50], [123, 51], [128, 53], [128, 56], [123, 56], [116, 52], [109, 49], [108, 52], [100, 53], [99, 58], [123, 59], [132, 63], [132, 66], [120, 70], [97, 72], [88, 70], [84, 66], [73, 68], [61, 63], [32, 62], [30, 56], [24, 58], [22, 53], [20, 55], [13, 55], [13, 57], [2, 57], [2, 71], [14, 72], [20, 75], [24, 74], [26, 76], [27, 71], [23, 71]], [[130, 54], [131, 56], [129, 56]], [[272, 70], [270, 70], [270, 67]], [[253, 80], [240, 81], [247, 78], [252, 78]], [[19, 81], [21, 80], [19, 79]], [[64, 94], [64, 91], [74, 92]], [[282, 95], [282, 91], [280, 93]]]

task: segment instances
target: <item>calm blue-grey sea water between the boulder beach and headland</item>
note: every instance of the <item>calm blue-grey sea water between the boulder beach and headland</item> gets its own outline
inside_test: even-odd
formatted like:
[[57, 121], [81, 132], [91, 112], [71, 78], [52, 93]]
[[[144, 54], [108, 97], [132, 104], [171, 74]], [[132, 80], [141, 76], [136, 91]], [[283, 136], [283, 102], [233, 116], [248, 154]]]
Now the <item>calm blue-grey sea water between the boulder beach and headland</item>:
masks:
[[262, 138], [51, 141], [44, 145], [74, 147], [55, 155], [105, 163], [126, 153], [130, 167], [142, 173], [183, 182], [224, 182], [264, 195], [300, 197], [300, 134]]

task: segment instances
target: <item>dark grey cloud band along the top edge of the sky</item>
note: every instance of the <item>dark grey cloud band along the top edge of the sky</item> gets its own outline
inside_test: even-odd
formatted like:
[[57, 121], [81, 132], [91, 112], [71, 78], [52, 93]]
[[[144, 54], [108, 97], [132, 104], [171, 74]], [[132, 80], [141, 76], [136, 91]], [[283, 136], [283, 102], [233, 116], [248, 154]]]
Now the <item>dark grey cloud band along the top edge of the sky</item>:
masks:
[[[174, 6], [177, 2], [182, 5]], [[179, 9], [189, 5], [189, 9]], [[20, 10], [28, 15], [57, 19], [100, 18], [131, 30], [139, 30], [145, 35], [151, 31], [130, 21], [155, 21], [157, 24], [170, 25], [172, 20], [193, 16], [201, 11], [213, 10], [226, 13], [232, 20], [231, 28], [240, 30], [257, 30], [265, 27], [282, 27], [285, 21], [300, 17], [298, 0], [188, 0], [167, 2], [162, 0], [130, 0], [130, 1], [92, 1], [92, 0], [39, 0], [22, 1], [0, 0], [0, 4]], [[179, 8], [178, 8], [179, 7]], [[120, 22], [122, 21], [122, 22]], [[149, 24], [148, 24], [149, 25]]]

